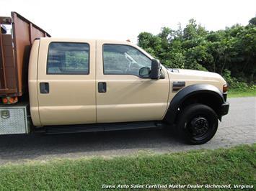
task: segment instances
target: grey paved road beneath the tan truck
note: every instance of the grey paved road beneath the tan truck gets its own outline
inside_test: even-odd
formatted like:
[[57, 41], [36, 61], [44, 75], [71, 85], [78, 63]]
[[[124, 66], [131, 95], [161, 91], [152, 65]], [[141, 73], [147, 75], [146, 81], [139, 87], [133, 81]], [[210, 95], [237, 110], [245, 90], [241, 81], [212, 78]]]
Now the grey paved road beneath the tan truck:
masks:
[[229, 115], [224, 116], [216, 135], [200, 146], [185, 145], [164, 130], [0, 136], [0, 164], [61, 157], [112, 157], [139, 152], [216, 149], [256, 143], [256, 97], [230, 98], [229, 103]]

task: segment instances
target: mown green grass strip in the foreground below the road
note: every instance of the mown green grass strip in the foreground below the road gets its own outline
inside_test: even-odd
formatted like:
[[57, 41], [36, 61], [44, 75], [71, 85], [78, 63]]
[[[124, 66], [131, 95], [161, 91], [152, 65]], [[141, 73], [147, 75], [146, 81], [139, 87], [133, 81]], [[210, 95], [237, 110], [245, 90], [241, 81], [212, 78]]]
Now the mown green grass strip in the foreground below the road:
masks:
[[[0, 190], [102, 190], [102, 185], [253, 185], [256, 144], [133, 157], [0, 166]], [[130, 190], [130, 189], [129, 189]]]

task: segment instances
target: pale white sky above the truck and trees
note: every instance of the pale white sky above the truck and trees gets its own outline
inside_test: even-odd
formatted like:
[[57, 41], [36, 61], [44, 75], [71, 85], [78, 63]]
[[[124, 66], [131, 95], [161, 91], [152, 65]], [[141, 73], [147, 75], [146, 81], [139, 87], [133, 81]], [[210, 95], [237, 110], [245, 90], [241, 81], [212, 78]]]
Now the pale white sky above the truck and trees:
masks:
[[208, 30], [248, 24], [256, 0], [0, 0], [0, 16], [17, 11], [52, 37], [131, 39], [189, 19]]

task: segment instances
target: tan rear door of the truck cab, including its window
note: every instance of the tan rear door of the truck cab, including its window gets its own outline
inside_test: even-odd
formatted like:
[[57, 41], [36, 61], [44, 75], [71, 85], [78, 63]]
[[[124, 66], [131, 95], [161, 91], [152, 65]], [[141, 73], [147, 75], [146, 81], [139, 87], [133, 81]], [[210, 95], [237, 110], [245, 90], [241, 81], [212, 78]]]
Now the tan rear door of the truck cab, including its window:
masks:
[[40, 39], [37, 93], [42, 126], [95, 123], [95, 41]]

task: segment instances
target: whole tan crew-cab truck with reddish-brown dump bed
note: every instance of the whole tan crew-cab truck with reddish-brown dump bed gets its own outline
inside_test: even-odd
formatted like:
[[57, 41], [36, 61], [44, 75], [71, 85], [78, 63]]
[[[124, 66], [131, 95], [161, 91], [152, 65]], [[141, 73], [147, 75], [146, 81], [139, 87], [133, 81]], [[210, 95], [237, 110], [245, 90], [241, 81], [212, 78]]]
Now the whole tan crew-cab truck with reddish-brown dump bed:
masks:
[[229, 111], [219, 74], [168, 69], [131, 42], [53, 38], [15, 12], [0, 23], [0, 134], [169, 126], [203, 144]]

